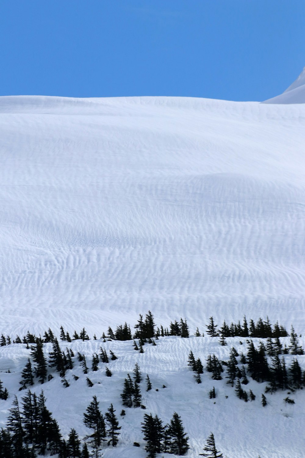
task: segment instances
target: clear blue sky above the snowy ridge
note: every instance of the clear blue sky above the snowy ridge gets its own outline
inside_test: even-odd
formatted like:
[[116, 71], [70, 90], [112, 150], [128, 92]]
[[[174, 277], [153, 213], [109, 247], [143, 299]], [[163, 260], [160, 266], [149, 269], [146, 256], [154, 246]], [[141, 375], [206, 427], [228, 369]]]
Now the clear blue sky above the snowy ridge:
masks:
[[264, 100], [304, 29], [305, 0], [1, 0], [0, 95]]

